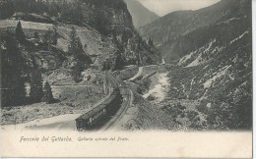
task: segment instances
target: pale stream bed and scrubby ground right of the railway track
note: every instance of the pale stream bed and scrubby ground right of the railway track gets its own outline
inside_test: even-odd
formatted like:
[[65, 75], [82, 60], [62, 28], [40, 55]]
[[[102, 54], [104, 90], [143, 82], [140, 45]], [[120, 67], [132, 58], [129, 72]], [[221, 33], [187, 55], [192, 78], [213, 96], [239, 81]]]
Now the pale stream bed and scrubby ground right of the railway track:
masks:
[[190, 131], [191, 125], [201, 125], [198, 121], [205, 121], [205, 115], [197, 110], [199, 100], [168, 98], [171, 82], [167, 74], [156, 74], [144, 95], [135, 94], [133, 106], [122, 118], [118, 129]]

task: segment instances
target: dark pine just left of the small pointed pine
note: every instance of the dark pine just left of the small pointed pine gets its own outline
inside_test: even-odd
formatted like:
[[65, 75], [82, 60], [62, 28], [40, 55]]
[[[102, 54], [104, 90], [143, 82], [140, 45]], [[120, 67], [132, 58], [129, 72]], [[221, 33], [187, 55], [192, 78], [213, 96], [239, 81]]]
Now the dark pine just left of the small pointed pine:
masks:
[[42, 78], [38, 70], [33, 70], [31, 73], [31, 101], [39, 102], [43, 96]]

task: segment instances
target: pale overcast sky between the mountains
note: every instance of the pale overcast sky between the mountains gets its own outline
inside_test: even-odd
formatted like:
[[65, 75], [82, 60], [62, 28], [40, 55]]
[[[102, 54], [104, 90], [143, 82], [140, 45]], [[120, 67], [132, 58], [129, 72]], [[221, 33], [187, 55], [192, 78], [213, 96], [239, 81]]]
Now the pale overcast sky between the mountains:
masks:
[[219, 2], [220, 0], [138, 0], [146, 8], [159, 16], [178, 10], [197, 10]]

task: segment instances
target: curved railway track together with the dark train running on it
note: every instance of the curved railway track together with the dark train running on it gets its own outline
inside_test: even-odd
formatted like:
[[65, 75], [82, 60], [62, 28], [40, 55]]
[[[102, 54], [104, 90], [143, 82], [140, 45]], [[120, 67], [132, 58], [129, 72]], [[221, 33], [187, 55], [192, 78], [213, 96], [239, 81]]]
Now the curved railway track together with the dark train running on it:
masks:
[[76, 119], [78, 130], [109, 130], [132, 104], [133, 93], [126, 83], [121, 79], [116, 79], [111, 73], [106, 73], [106, 78], [109, 79], [113, 92], [94, 109]]

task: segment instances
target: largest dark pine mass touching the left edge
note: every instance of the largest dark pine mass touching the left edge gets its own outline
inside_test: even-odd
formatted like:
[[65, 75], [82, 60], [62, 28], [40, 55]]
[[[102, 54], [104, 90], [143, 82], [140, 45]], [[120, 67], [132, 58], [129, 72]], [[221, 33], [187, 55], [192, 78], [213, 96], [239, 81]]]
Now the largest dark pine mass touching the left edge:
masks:
[[22, 78], [24, 59], [13, 34], [2, 38], [5, 50], [1, 50], [1, 105], [19, 105], [26, 99], [25, 81]]

